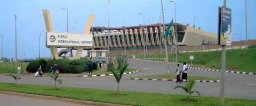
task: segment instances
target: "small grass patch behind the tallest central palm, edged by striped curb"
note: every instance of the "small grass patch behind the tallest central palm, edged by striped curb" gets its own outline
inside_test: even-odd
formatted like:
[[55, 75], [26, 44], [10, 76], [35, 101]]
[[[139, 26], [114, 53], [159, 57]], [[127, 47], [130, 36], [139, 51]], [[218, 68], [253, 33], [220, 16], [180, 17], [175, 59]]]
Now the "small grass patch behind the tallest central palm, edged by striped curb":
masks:
[[[131, 68], [126, 68], [125, 70], [124, 70], [124, 72], [134, 72], [134, 71], [136, 71], [137, 69], [131, 69]], [[92, 70], [92, 73], [91, 74], [89, 74], [89, 72], [84, 72], [84, 73], [82, 73], [82, 75], [99, 75], [99, 74], [112, 74], [111, 72], [108, 72], [107, 71], [107, 68], [106, 68], [106, 70], [105, 69], [98, 69], [98, 70]]]

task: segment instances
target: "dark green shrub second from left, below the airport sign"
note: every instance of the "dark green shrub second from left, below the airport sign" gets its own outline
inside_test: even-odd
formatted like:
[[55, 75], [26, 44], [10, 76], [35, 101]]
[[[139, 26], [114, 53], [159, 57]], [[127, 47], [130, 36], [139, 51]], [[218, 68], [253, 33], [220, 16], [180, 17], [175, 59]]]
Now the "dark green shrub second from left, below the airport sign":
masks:
[[69, 72], [69, 61], [67, 59], [47, 60], [46, 70], [47, 72], [51, 72], [51, 67], [56, 63], [60, 73], [67, 73]]

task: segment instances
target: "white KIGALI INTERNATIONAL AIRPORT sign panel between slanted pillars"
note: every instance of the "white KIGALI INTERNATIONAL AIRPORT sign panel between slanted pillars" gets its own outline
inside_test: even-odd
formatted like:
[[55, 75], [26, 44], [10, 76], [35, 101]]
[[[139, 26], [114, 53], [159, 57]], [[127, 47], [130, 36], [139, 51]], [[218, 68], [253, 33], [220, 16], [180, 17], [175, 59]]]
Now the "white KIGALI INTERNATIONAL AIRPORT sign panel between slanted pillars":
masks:
[[46, 46], [92, 47], [92, 34], [46, 32]]

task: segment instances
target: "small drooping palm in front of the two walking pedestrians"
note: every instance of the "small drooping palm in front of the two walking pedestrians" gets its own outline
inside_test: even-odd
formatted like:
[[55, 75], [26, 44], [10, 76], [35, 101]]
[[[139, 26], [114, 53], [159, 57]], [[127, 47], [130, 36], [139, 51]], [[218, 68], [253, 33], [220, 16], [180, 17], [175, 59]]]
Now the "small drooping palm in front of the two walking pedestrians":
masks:
[[177, 86], [175, 86], [174, 90], [177, 89], [177, 88], [181, 88], [181, 89], [185, 90], [187, 92], [187, 100], [189, 100], [189, 96], [190, 96], [191, 93], [197, 93], [199, 96], [201, 95], [200, 92], [192, 90], [192, 88], [193, 88], [193, 86], [195, 84], [196, 84], [195, 81], [190, 81], [185, 86], [184, 85], [177, 85]]

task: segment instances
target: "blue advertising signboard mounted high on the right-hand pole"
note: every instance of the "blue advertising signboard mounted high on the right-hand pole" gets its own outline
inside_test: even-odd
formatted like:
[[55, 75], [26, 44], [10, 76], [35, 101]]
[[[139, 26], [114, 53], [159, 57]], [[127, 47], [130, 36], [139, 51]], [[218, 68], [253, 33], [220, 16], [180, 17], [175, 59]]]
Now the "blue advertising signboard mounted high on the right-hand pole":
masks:
[[231, 9], [219, 7], [218, 16], [218, 44], [221, 46], [231, 46]]

